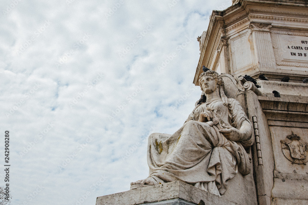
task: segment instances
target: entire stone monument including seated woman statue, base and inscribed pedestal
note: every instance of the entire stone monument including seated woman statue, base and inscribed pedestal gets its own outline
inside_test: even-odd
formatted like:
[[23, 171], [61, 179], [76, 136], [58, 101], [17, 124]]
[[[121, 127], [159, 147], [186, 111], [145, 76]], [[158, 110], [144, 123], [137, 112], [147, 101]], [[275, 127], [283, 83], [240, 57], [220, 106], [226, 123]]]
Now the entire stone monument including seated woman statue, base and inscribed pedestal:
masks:
[[148, 178], [96, 205], [308, 204], [307, 0], [233, 0], [197, 40], [193, 112], [149, 136]]

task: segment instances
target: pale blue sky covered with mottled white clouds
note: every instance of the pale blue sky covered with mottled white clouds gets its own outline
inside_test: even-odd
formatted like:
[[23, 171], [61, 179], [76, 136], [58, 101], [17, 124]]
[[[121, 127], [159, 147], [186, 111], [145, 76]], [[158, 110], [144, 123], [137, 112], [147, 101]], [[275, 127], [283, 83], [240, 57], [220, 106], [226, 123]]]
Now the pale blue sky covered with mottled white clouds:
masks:
[[193, 110], [197, 37], [228, 6], [0, 1], [0, 186], [10, 164], [12, 204], [94, 205], [146, 178], [148, 135]]

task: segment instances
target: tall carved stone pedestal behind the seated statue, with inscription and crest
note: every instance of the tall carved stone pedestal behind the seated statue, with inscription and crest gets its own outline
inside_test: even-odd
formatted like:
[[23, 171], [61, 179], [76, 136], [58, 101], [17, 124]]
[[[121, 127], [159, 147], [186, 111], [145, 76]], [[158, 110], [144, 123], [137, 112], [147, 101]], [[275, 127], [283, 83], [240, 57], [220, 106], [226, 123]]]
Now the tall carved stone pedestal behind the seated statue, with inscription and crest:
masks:
[[[258, 204], [308, 204], [308, 84], [302, 82], [308, 78], [307, 1], [233, 2], [213, 11], [198, 39], [201, 55], [193, 82], [198, 85], [203, 66], [237, 81], [222, 74], [230, 79], [224, 79], [225, 94], [236, 98], [253, 122]], [[268, 81], [258, 79], [260, 74]], [[281, 82], [285, 76], [289, 82]], [[281, 97], [274, 97], [274, 90]]]

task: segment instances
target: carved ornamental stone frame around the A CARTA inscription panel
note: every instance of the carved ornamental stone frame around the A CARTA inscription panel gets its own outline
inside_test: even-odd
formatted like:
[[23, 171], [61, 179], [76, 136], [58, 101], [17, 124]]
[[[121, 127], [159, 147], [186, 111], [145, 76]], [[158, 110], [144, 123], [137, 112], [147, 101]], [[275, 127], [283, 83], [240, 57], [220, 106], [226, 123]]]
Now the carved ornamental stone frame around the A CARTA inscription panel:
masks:
[[277, 34], [292, 35], [292, 36], [308, 36], [308, 33], [290, 32], [290, 31], [286, 32], [286, 31], [275, 31], [274, 30], [274, 31], [271, 31], [271, 34], [270, 34], [271, 38], [272, 38], [274, 56], [275, 56], [275, 60], [276, 60], [277, 65], [308, 68], [308, 64], [304, 64], [304, 63], [282, 62], [282, 60], [280, 59], [280, 55], [279, 55]]

